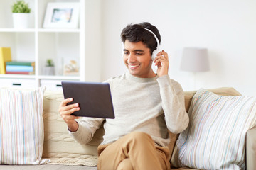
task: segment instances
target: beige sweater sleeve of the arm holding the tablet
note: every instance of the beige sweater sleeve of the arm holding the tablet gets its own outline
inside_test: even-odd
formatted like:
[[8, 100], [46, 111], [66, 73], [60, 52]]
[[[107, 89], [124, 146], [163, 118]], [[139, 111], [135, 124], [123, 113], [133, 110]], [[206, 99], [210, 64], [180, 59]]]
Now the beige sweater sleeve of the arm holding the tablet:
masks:
[[103, 118], [82, 118], [78, 122], [78, 130], [69, 133], [80, 144], [87, 144], [92, 140], [93, 135], [104, 120]]

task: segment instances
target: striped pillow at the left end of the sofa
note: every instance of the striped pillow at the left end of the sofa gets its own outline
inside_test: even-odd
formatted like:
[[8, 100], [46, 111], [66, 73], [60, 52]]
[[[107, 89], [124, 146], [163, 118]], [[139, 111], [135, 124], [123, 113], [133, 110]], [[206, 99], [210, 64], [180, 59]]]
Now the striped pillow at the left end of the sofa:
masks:
[[44, 90], [0, 88], [1, 164], [41, 164]]

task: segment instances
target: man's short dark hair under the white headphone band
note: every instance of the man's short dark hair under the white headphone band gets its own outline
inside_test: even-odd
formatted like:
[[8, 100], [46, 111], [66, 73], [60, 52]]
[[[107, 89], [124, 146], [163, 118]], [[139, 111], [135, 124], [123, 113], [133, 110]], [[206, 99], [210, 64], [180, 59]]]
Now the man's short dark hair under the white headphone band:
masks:
[[150, 49], [152, 54], [152, 52], [156, 50], [157, 42], [154, 35], [144, 28], [151, 30], [159, 39], [159, 43], [161, 42], [161, 35], [156, 26], [151, 25], [151, 23], [144, 22], [138, 24], [131, 23], [127, 25], [121, 33], [122, 43], [124, 43], [125, 40], [129, 40], [129, 42], [142, 41], [142, 43]]

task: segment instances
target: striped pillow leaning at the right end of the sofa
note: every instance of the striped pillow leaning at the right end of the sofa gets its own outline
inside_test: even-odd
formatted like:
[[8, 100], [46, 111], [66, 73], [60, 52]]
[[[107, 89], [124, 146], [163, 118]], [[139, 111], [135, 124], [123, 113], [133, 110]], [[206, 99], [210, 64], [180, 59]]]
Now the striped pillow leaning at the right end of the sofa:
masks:
[[256, 124], [256, 98], [218, 96], [200, 89], [171, 159], [176, 167], [245, 169], [245, 135]]

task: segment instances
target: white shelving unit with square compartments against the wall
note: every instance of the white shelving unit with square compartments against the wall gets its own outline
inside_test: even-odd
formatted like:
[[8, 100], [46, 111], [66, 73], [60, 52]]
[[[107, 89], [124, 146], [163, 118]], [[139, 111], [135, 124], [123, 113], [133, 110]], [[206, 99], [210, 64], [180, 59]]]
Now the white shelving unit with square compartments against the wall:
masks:
[[[15, 0], [16, 1], [16, 0]], [[61, 89], [61, 81], [85, 81], [85, 1], [84, 0], [25, 0], [31, 7], [30, 28], [15, 29], [11, 5], [14, 0], [2, 0], [0, 6], [0, 47], [11, 47], [12, 60], [35, 62], [34, 75], [0, 74], [0, 86], [46, 86]], [[78, 2], [78, 28], [43, 28], [49, 2]], [[79, 74], [63, 75], [63, 60], [73, 57], [79, 63]], [[55, 75], [43, 74], [47, 59], [55, 64]]]

